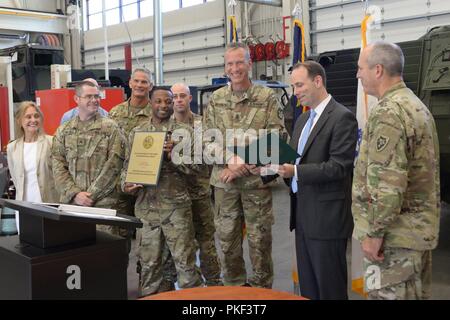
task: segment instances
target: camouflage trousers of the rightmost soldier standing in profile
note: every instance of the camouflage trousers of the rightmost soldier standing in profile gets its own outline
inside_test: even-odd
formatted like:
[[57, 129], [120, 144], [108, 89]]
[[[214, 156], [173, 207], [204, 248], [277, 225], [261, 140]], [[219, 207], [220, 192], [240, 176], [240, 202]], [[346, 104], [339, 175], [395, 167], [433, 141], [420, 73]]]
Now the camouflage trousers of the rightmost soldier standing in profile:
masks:
[[384, 248], [384, 261], [364, 258], [364, 284], [372, 300], [429, 299], [431, 251]]

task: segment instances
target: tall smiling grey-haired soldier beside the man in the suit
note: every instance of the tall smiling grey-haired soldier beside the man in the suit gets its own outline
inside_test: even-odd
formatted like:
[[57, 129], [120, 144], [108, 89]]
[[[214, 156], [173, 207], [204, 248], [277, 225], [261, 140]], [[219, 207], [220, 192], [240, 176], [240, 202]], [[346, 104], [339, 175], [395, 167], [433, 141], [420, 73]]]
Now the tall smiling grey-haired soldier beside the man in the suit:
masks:
[[[223, 137], [227, 129], [254, 129], [257, 133], [259, 129], [276, 129], [285, 135], [283, 110], [271, 89], [250, 81], [251, 67], [248, 47], [239, 43], [227, 47], [225, 72], [231, 83], [211, 95], [205, 130], [218, 129]], [[214, 186], [216, 232], [224, 254], [224, 284], [271, 288], [272, 191], [263, 184], [254, 165], [228, 156], [227, 148], [207, 135], [204, 141], [206, 154], [223, 155], [222, 164], [214, 164], [210, 183]], [[244, 223], [253, 268], [253, 277], [248, 280], [242, 256]]]

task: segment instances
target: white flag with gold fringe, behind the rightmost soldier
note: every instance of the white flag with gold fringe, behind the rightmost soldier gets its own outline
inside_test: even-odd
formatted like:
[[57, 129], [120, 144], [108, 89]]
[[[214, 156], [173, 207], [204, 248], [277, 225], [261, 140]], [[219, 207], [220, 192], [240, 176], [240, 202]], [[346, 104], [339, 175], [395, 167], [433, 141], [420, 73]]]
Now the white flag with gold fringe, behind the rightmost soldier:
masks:
[[[370, 14], [366, 14], [361, 22], [361, 51], [370, 43], [370, 30], [368, 25], [372, 20]], [[356, 119], [358, 121], [358, 143], [356, 146], [356, 158], [359, 153], [359, 146], [362, 140], [363, 129], [366, 125], [371, 108], [377, 103], [377, 99], [369, 96], [364, 92], [361, 80], [358, 79], [358, 95], [356, 102]], [[355, 161], [356, 161], [355, 158]], [[363, 268], [363, 252], [361, 244], [355, 238], [352, 238], [352, 291], [366, 296], [364, 291], [364, 268]]]

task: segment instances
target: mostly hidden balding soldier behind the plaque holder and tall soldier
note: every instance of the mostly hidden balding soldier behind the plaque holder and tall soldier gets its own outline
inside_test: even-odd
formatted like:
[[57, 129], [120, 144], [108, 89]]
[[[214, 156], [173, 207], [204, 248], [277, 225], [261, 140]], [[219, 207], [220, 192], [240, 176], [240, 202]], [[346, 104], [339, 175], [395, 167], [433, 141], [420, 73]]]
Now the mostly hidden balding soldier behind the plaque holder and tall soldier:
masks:
[[[185, 123], [194, 130], [202, 130], [202, 117], [194, 114], [190, 109], [192, 96], [189, 87], [183, 83], [174, 84], [171, 88], [174, 98], [175, 122]], [[211, 194], [209, 186], [209, 167], [200, 166], [201, 171], [187, 177], [189, 196], [192, 201], [192, 214], [194, 221], [195, 239], [200, 249], [200, 268], [206, 285], [221, 285], [220, 265], [214, 240], [214, 213], [211, 208]]]

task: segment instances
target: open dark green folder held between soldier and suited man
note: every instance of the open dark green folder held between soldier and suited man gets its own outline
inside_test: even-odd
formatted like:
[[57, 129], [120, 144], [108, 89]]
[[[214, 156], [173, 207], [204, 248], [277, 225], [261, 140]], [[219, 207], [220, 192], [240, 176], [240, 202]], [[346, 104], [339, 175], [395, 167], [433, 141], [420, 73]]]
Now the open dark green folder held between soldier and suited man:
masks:
[[276, 133], [252, 141], [245, 147], [230, 148], [234, 154], [247, 164], [264, 166], [267, 164], [285, 164], [294, 162], [300, 155]]

